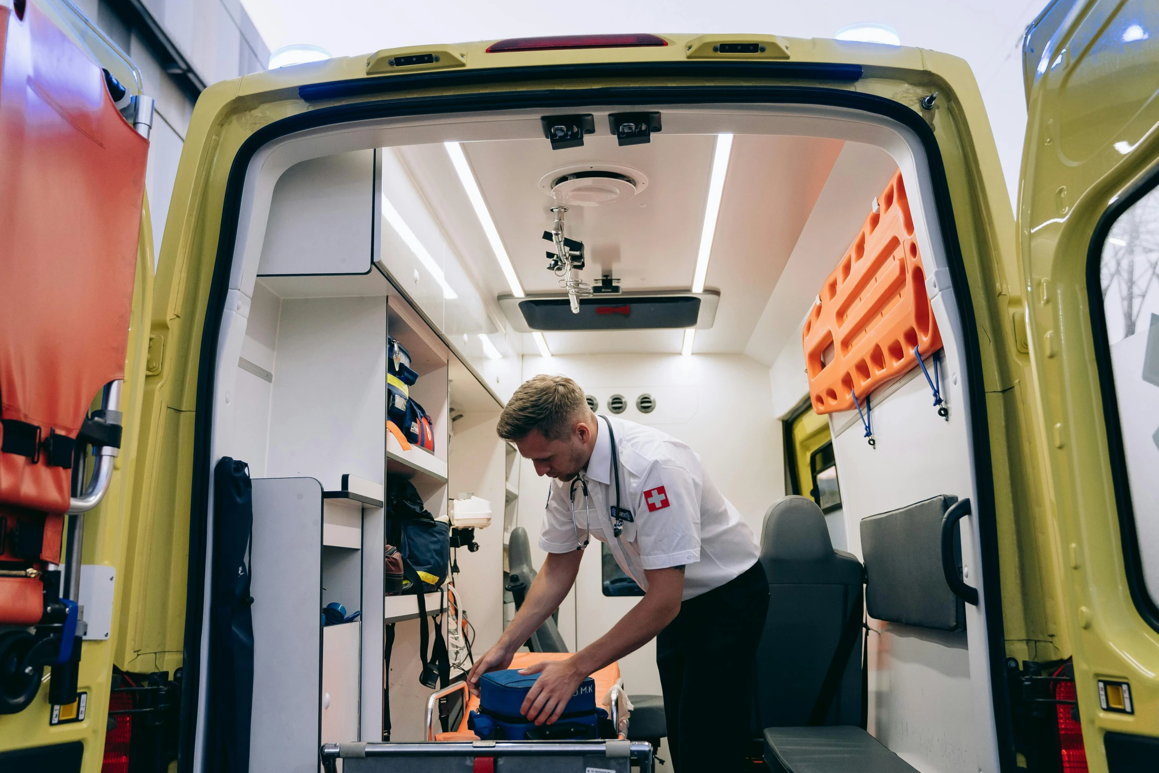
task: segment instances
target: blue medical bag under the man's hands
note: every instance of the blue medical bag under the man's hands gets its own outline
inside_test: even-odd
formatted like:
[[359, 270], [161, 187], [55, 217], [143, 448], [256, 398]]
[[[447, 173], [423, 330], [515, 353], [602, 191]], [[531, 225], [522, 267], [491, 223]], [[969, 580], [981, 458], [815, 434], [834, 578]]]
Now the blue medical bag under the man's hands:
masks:
[[[535, 727], [520, 714], [523, 701], [538, 673], [523, 674], [516, 669], [491, 671], [479, 679], [479, 710], [472, 712], [467, 727], [484, 741], [562, 741], [600, 737], [599, 721], [607, 712], [596, 708], [596, 681], [586, 677], [554, 724]], [[613, 736], [614, 737], [614, 736]]]

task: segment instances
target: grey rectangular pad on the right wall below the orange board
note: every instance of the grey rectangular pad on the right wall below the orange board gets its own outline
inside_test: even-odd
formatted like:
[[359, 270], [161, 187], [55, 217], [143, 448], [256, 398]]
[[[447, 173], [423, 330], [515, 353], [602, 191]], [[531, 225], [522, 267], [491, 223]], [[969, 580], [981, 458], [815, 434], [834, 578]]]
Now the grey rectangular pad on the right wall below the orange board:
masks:
[[954, 496], [935, 496], [861, 520], [866, 606], [870, 618], [961, 630], [962, 601], [946, 583], [941, 523]]

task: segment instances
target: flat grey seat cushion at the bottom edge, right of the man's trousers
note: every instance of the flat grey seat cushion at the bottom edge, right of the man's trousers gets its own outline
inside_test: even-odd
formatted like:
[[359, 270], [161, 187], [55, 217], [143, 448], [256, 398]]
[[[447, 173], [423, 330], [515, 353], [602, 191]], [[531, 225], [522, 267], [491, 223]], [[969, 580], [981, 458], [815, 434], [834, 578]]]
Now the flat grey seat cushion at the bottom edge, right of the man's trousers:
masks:
[[917, 773], [861, 728], [768, 728], [765, 764], [773, 773]]

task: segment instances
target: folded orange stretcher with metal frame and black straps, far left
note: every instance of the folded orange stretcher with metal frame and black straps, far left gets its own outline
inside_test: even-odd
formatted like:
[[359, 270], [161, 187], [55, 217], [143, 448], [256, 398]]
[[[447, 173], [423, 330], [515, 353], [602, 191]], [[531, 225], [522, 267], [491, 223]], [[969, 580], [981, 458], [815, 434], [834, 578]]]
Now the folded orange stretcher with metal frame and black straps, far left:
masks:
[[0, 626], [21, 626], [0, 634], [0, 714], [14, 714], [45, 666], [51, 701], [76, 700], [80, 513], [121, 445], [148, 140], [115, 104], [125, 89], [38, 6], [0, 5]]

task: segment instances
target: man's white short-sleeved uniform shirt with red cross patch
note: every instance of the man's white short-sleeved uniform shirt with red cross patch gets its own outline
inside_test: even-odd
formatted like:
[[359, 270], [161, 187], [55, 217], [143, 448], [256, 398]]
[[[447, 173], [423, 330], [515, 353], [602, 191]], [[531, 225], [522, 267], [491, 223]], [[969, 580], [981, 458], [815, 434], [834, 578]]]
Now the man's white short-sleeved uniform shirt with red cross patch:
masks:
[[[552, 481], [539, 546], [548, 553], [569, 553], [591, 537], [606, 542], [615, 562], [648, 590], [644, 569], [686, 567], [684, 599], [720, 588], [752, 567], [759, 557], [749, 524], [708, 477], [700, 457], [659, 430], [621, 418], [598, 420], [596, 447], [575, 484]], [[620, 458], [620, 506], [632, 511], [620, 537], [614, 537], [610, 506], [615, 504], [612, 443]], [[573, 518], [573, 511], [575, 517]]]

